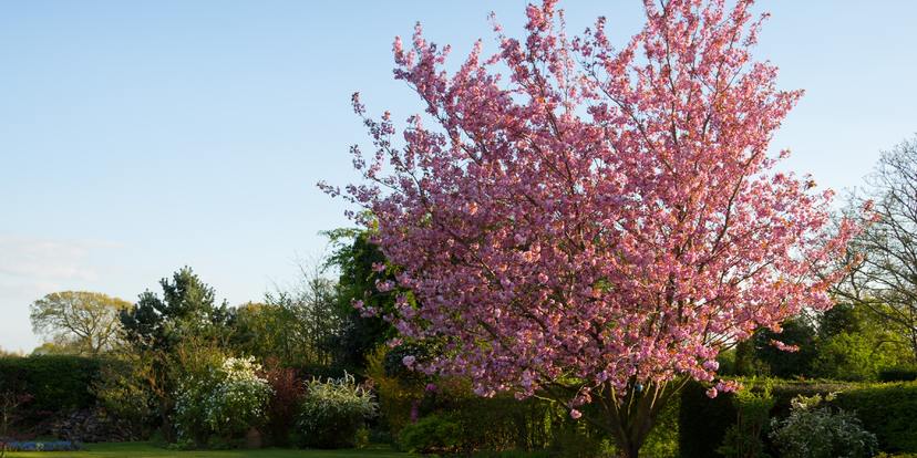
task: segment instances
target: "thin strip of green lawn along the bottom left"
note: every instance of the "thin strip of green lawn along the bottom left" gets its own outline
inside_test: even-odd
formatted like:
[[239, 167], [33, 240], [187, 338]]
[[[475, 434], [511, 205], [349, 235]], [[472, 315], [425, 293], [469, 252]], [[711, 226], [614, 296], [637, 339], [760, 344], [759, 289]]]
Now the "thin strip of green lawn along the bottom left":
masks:
[[83, 451], [21, 451], [7, 452], [9, 458], [73, 457], [73, 458], [405, 458], [408, 455], [392, 451], [384, 446], [349, 450], [296, 450], [267, 448], [261, 450], [196, 450], [176, 451], [157, 448], [146, 443], [87, 444]]

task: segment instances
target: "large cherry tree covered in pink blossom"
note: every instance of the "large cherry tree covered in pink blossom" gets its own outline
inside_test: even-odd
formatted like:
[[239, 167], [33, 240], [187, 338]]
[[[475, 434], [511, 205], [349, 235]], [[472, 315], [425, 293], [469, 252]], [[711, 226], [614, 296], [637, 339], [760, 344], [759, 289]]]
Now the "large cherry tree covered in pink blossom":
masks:
[[[739, 0], [645, 0], [646, 25], [614, 48], [605, 19], [564, 31], [554, 0], [527, 37], [495, 32], [455, 71], [416, 27], [395, 77], [426, 106], [399, 129], [354, 95], [374, 154], [339, 188], [412, 291], [390, 316], [442, 351], [419, 368], [476, 392], [546, 394], [636, 457], [652, 418], [717, 355], [802, 308], [831, 306], [830, 190], [776, 173], [773, 132], [802, 95], [755, 62], [761, 21]], [[825, 274], [827, 272], [827, 274]], [[357, 304], [358, 306], [362, 304]], [[590, 408], [583, 408], [590, 404]]]

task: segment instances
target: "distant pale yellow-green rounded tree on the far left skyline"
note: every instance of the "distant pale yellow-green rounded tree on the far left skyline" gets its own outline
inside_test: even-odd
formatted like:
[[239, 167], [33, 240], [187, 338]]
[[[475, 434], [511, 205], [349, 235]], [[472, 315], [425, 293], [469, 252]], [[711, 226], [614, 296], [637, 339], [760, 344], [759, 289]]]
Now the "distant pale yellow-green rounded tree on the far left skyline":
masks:
[[32, 330], [58, 346], [97, 355], [110, 350], [120, 332], [119, 313], [131, 306], [122, 299], [86, 291], [62, 291], [33, 302]]

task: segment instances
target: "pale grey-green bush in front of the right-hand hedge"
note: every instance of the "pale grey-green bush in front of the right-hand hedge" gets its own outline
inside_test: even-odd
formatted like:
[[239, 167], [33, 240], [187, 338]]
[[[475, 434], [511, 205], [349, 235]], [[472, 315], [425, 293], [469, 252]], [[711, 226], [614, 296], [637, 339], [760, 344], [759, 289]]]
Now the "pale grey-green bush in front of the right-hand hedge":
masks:
[[[825, 400], [832, 400], [832, 396]], [[822, 396], [793, 399], [785, 419], [773, 420], [771, 439], [785, 458], [868, 458], [878, 448], [876, 436], [844, 410], [833, 412]]]

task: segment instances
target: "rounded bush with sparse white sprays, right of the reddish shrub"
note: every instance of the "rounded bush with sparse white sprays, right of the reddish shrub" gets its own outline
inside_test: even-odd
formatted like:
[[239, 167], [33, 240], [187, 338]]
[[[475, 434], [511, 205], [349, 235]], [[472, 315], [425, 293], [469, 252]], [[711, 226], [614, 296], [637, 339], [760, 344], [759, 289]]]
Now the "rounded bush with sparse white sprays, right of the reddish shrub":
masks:
[[306, 395], [297, 419], [300, 444], [318, 448], [347, 448], [356, 445], [357, 431], [379, 408], [364, 386], [350, 374], [306, 384]]

